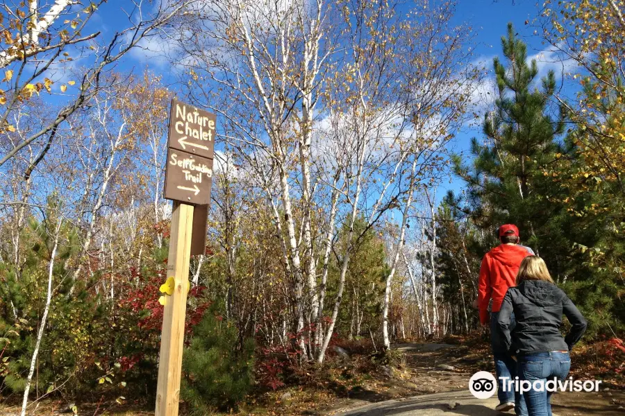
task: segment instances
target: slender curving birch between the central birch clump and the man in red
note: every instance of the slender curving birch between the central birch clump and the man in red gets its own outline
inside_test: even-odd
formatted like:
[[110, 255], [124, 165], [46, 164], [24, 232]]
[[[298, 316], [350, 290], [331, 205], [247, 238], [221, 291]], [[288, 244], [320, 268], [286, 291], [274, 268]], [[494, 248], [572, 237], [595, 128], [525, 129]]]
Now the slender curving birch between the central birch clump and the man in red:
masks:
[[[407, 182], [403, 198], [398, 200], [401, 211], [399, 232], [394, 243], [390, 272], [386, 277], [386, 288], [382, 312], [382, 332], [385, 348], [390, 348], [388, 333], [388, 311], [392, 281], [399, 265], [401, 250], [405, 243], [406, 226], [412, 216], [412, 202], [415, 193], [425, 192], [429, 201], [428, 187], [431, 187], [444, 173], [447, 144], [462, 126], [469, 110], [469, 97], [478, 73], [471, 66], [471, 54], [464, 50], [472, 40], [467, 27], [452, 27], [453, 3], [443, 3], [429, 10], [428, 3], [417, 12], [424, 12], [422, 19], [406, 21], [402, 29], [406, 35], [406, 96], [410, 112], [412, 132], [404, 141]], [[458, 67], [465, 68], [458, 71]], [[432, 201], [433, 203], [433, 201]], [[433, 205], [432, 205], [433, 209]], [[435, 232], [435, 231], [434, 231]], [[435, 241], [435, 235], [433, 236]], [[431, 250], [433, 256], [433, 250]], [[432, 284], [435, 290], [434, 261]], [[433, 298], [433, 318], [437, 324], [437, 308]]]

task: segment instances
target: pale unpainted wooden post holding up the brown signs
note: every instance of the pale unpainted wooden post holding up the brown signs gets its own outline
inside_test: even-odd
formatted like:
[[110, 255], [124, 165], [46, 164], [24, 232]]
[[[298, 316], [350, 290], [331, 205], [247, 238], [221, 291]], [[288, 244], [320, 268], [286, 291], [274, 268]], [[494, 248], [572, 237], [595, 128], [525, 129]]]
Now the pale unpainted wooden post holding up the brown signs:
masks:
[[171, 296], [165, 295], [155, 416], [178, 416], [192, 225], [193, 206], [174, 202], [167, 278], [174, 277], [175, 286]]

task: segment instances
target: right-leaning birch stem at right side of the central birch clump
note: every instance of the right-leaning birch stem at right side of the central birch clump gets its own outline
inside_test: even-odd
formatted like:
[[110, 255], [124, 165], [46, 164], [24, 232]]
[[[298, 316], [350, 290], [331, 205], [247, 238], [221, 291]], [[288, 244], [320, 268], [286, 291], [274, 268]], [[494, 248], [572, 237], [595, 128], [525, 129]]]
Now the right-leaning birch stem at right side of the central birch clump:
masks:
[[[334, 333], [355, 243], [396, 203], [395, 181], [406, 159], [402, 145], [406, 107], [401, 88], [397, 87], [401, 85], [397, 76], [401, 44], [397, 26], [394, 26], [397, 15], [392, 5], [376, 9], [372, 3], [360, 5], [346, 1], [342, 10], [348, 21], [351, 56], [344, 62], [344, 72], [332, 84], [332, 90], [339, 93], [328, 94], [328, 105], [331, 128], [335, 129], [330, 137], [338, 140], [334, 146], [338, 150], [333, 155], [335, 162], [330, 166], [335, 166], [337, 172], [332, 177], [340, 177], [343, 182], [342, 221], [347, 228], [347, 245], [339, 259], [337, 293], [317, 352], [319, 363], [324, 361]], [[347, 19], [352, 14], [357, 17], [353, 22]], [[381, 183], [376, 183], [374, 177], [381, 172]], [[335, 184], [332, 187], [336, 189]], [[367, 201], [369, 196], [373, 196], [373, 205]], [[333, 210], [331, 208], [331, 216]], [[358, 216], [365, 216], [366, 223], [364, 229], [356, 233], [354, 225]], [[326, 238], [326, 243], [328, 241], [331, 239]], [[323, 281], [319, 298], [325, 298], [325, 291]], [[319, 309], [319, 326], [323, 313]]]

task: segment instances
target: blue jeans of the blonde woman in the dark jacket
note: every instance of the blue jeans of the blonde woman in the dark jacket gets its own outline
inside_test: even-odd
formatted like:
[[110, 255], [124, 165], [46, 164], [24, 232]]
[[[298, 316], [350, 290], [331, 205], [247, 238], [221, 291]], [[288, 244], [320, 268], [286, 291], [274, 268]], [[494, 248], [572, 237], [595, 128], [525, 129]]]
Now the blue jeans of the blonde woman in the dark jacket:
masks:
[[[535, 380], [557, 378], [564, 380], [571, 370], [568, 352], [543, 352], [519, 357], [519, 379], [533, 383]], [[529, 416], [551, 416], [551, 392], [532, 390], [524, 394]]]

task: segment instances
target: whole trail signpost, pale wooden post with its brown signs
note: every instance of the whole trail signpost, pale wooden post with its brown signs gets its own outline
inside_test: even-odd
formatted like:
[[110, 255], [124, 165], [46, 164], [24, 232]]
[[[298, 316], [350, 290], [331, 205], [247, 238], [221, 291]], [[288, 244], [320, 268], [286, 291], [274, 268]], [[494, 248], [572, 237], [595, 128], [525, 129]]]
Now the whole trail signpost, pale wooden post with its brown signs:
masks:
[[215, 114], [172, 100], [165, 198], [174, 200], [167, 258], [167, 279], [173, 280], [173, 287], [163, 297], [156, 416], [178, 416], [189, 263], [191, 255], [203, 254], [206, 245], [215, 120]]

